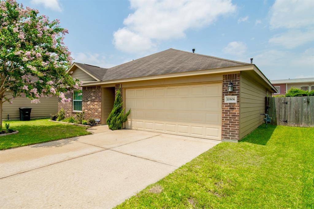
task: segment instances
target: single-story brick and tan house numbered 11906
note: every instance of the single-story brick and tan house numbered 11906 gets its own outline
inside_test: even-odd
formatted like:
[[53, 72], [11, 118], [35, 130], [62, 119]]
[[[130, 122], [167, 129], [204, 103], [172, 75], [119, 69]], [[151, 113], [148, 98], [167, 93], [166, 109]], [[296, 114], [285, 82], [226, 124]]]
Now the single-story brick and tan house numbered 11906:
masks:
[[59, 102], [67, 117], [84, 110], [85, 118], [106, 124], [121, 88], [123, 106], [131, 109], [127, 129], [222, 141], [261, 125], [265, 97], [276, 92], [254, 64], [176, 49], [109, 69], [73, 63], [68, 72], [83, 81], [83, 95], [74, 91], [66, 95], [73, 102]]

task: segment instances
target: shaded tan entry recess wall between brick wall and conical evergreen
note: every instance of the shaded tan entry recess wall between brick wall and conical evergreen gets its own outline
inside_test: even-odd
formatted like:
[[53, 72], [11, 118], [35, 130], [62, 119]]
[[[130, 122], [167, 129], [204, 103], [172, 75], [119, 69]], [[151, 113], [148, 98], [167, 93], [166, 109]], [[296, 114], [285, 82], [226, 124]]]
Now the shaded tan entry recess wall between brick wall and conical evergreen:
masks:
[[102, 101], [101, 101], [101, 123], [106, 124], [109, 113], [113, 108], [115, 101], [115, 88], [102, 88]]

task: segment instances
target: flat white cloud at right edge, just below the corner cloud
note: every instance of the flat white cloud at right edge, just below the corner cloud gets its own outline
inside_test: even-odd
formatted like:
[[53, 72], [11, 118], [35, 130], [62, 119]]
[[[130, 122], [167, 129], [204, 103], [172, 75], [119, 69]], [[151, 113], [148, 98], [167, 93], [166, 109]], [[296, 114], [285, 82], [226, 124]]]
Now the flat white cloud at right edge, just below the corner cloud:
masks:
[[269, 43], [278, 44], [287, 49], [292, 49], [313, 40], [313, 30], [305, 32], [300, 30], [290, 30], [286, 33], [274, 35], [271, 39], [269, 39]]

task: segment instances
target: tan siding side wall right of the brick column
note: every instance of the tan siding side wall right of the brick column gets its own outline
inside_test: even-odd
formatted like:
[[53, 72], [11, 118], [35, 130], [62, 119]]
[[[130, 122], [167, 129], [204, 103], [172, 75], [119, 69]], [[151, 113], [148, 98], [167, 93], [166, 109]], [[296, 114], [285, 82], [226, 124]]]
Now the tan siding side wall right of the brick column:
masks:
[[266, 89], [241, 72], [240, 139], [264, 121]]

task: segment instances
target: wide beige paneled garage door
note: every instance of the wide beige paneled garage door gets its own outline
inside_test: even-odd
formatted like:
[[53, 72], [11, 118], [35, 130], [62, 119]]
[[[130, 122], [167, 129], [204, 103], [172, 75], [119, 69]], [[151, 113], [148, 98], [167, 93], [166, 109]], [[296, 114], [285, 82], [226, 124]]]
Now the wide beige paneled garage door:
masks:
[[221, 140], [221, 83], [126, 89], [126, 128]]

